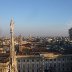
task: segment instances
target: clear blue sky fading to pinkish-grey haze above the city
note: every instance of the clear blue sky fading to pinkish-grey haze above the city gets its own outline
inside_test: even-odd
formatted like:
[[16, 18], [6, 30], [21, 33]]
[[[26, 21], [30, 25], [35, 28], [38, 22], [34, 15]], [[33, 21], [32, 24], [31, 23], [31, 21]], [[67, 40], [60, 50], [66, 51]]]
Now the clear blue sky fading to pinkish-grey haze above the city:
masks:
[[68, 36], [72, 27], [72, 0], [0, 0], [0, 34]]

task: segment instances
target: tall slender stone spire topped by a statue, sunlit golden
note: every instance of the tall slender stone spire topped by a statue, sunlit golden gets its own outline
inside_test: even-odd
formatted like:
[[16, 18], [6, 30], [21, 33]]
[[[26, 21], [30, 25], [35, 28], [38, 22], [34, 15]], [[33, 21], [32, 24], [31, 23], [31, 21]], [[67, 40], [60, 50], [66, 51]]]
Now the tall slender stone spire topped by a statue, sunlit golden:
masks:
[[14, 48], [14, 21], [13, 18], [10, 22], [10, 34], [11, 34], [11, 45], [10, 45], [10, 72], [18, 72], [17, 71], [17, 61], [16, 61], [16, 53]]

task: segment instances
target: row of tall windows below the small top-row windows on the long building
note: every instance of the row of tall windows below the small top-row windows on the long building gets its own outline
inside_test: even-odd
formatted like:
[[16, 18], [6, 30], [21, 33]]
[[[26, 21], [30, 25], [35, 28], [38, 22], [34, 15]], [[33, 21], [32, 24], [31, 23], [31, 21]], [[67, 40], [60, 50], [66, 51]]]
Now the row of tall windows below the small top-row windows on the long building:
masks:
[[18, 68], [38, 68], [38, 67], [41, 67], [41, 66], [44, 66], [45, 68], [48, 68], [48, 67], [54, 67], [54, 68], [61, 68], [61, 67], [72, 67], [72, 63], [46, 63], [46, 64], [19, 64], [18, 65]]

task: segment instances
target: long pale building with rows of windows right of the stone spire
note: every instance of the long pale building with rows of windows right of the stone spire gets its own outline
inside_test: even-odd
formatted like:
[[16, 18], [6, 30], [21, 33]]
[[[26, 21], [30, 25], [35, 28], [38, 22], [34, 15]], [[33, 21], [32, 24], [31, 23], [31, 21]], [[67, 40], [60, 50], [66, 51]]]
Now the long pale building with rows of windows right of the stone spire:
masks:
[[[18, 72], [72, 72], [72, 55], [44, 53], [40, 55], [18, 55]], [[47, 72], [47, 71], [46, 71]]]

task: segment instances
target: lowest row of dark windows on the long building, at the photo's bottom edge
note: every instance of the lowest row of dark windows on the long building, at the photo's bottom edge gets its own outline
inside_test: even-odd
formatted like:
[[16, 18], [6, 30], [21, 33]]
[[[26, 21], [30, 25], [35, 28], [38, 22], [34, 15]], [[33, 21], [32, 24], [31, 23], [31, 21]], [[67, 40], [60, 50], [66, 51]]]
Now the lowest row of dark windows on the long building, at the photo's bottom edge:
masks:
[[[18, 69], [19, 70], [19, 72], [21, 72], [21, 71], [23, 71], [23, 72], [40, 72], [40, 70], [43, 70], [43, 67], [41, 67], [41, 68], [37, 68], [37, 69], [34, 69], [34, 68], [27, 68], [27, 69], [25, 69], [25, 68], [23, 68], [22, 70], [21, 69]], [[44, 68], [44, 70], [52, 70], [52, 71], [72, 71], [72, 67], [71, 68], [54, 68], [54, 67], [49, 67], [48, 69], [47, 68]]]

